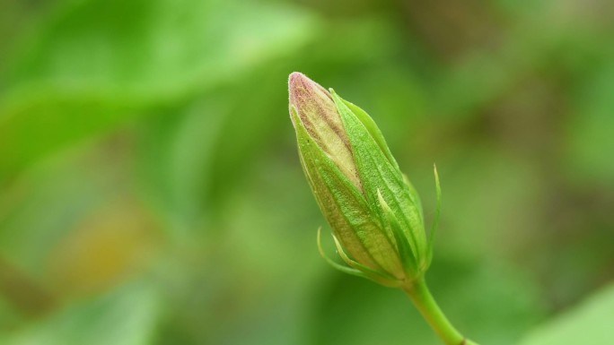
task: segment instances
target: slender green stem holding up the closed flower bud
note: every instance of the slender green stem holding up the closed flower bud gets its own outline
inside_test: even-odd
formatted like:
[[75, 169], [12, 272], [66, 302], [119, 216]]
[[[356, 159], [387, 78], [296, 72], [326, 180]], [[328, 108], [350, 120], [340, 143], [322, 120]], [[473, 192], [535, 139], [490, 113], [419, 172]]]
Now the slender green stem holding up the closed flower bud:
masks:
[[446, 345], [478, 345], [474, 341], [469, 341], [459, 331], [452, 326], [452, 323], [443, 314], [442, 309], [437, 306], [431, 291], [426, 286], [425, 279], [414, 281], [411, 285], [403, 287], [409, 298], [417, 306], [417, 309], [425, 317], [426, 322], [431, 325], [434, 332]]

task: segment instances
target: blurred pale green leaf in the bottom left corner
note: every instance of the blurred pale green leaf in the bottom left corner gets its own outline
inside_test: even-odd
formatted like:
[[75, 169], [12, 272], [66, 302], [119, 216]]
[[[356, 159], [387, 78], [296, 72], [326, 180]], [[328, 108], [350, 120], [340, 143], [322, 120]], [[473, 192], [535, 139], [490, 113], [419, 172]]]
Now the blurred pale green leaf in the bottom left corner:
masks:
[[131, 283], [104, 296], [66, 306], [12, 335], [5, 345], [147, 345], [160, 313], [151, 284]]

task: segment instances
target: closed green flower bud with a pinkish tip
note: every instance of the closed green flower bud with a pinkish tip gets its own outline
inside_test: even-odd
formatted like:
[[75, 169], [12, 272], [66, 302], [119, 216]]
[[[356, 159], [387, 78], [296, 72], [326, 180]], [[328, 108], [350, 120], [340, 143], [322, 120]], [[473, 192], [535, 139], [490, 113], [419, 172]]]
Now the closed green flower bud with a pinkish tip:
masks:
[[433, 231], [427, 240], [417, 192], [373, 119], [303, 73], [288, 90], [303, 171], [348, 266], [329, 263], [386, 286], [421, 278]]

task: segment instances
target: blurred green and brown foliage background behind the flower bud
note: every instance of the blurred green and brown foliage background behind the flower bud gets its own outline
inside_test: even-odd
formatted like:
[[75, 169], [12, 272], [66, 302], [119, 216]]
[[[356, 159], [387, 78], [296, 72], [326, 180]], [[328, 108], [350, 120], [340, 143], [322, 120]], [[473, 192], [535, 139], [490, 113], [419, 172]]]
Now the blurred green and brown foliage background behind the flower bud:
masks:
[[610, 0], [2, 0], [0, 343], [438, 344], [320, 258], [293, 71], [374, 117], [427, 219], [437, 164], [461, 331], [611, 344]]

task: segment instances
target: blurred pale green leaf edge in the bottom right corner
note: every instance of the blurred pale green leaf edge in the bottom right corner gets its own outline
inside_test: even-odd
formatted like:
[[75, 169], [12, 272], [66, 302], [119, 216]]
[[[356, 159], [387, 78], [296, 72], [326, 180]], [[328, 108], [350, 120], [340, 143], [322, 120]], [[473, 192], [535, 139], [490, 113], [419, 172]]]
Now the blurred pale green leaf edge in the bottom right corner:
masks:
[[612, 343], [614, 285], [602, 289], [580, 306], [539, 326], [522, 345], [608, 345]]

